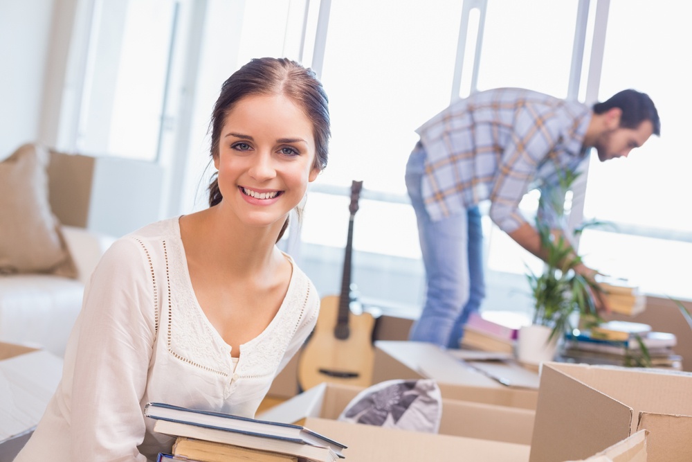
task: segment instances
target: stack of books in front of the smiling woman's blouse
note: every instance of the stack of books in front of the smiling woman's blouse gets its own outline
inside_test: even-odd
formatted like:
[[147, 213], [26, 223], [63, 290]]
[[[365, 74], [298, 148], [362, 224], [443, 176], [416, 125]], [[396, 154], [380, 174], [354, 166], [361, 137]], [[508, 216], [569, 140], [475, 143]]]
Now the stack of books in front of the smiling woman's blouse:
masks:
[[335, 462], [346, 445], [303, 427], [149, 402], [154, 431], [175, 436], [172, 454], [159, 461]]

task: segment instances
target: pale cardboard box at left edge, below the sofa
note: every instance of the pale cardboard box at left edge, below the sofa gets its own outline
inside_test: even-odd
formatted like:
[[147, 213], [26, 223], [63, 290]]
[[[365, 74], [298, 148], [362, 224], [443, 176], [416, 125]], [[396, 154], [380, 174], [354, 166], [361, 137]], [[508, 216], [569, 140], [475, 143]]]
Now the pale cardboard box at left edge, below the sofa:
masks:
[[62, 359], [0, 342], [0, 461], [11, 461], [44, 414], [62, 376]]

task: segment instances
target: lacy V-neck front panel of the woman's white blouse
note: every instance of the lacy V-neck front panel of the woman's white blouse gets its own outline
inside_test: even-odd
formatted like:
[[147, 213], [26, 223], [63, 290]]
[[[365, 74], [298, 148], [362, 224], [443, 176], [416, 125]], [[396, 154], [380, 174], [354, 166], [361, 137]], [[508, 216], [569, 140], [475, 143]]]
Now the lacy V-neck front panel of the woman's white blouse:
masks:
[[[318, 302], [312, 283], [286, 256], [293, 267], [286, 296], [266, 329], [239, 347], [239, 361], [234, 370], [230, 346], [207, 319], [194, 294], [178, 220], [170, 220], [165, 226], [161, 237], [152, 241], [152, 244], [157, 242], [156, 245], [162, 246], [158, 252], [161, 261], [154, 262], [159, 281], [163, 282], [165, 272], [166, 285], [160, 285], [161, 294], [158, 296], [163, 305], [161, 334], [165, 335], [164, 349], [176, 361], [217, 375], [225, 382], [226, 398], [238, 387], [260, 387], [257, 392], [262, 393], [264, 387], [271, 384], [289, 347], [295, 347], [294, 341], [304, 340], [295, 339], [297, 332], [309, 323], [314, 325], [318, 310], [313, 308]], [[163, 335], [160, 335], [162, 342]]]

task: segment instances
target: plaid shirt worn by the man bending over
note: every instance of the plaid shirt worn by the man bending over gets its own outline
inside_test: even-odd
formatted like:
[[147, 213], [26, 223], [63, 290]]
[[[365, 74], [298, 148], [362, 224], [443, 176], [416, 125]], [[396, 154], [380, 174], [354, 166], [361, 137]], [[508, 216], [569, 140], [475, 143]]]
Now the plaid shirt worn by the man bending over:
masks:
[[[558, 169], [576, 170], [590, 107], [526, 89], [494, 89], [459, 99], [416, 132], [426, 151], [422, 192], [432, 220], [491, 200], [490, 217], [511, 232], [526, 222], [530, 189], [558, 191]], [[547, 201], [549, 202], [549, 201]], [[547, 224], [561, 226], [544, 210]]]

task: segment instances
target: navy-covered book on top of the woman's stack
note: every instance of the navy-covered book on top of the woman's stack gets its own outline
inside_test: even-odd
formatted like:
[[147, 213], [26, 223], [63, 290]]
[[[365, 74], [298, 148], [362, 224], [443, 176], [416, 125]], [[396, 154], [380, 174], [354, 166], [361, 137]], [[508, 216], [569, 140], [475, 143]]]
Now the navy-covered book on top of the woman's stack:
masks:
[[[170, 420], [197, 425], [203, 428], [259, 436], [261, 438], [273, 438], [317, 447], [329, 447], [342, 458], [343, 454], [341, 454], [341, 450], [347, 447], [338, 441], [334, 441], [331, 438], [313, 432], [302, 425], [259, 420], [223, 412], [189, 409], [187, 407], [174, 406], [162, 402], [148, 402], [144, 407], [144, 415], [149, 418], [158, 419], [159, 421]], [[194, 436], [192, 437], [194, 438]], [[225, 441], [220, 441], [220, 443], [225, 443]]]

